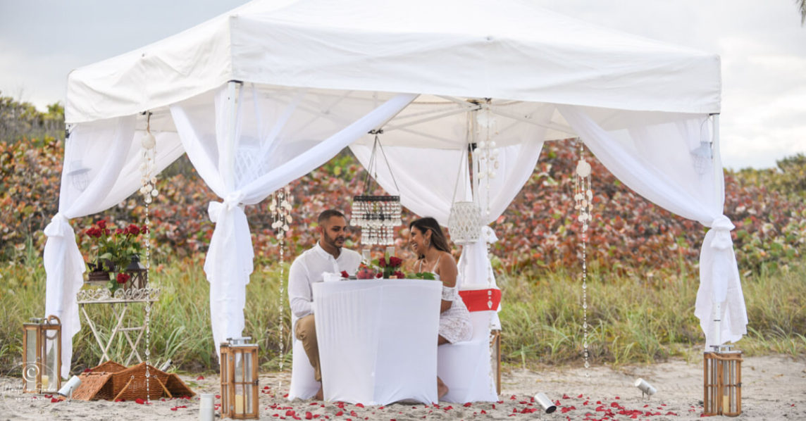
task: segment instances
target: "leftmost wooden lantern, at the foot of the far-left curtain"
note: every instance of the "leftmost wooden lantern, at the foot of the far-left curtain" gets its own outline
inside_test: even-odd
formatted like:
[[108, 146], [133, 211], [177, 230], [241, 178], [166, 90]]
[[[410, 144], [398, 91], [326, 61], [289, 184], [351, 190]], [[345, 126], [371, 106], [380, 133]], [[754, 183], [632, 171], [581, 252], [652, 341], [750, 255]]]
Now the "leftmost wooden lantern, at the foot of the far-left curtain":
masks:
[[23, 392], [56, 393], [61, 387], [61, 321], [56, 316], [23, 324]]

